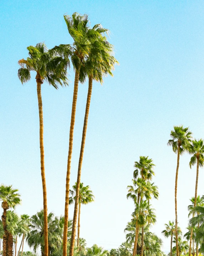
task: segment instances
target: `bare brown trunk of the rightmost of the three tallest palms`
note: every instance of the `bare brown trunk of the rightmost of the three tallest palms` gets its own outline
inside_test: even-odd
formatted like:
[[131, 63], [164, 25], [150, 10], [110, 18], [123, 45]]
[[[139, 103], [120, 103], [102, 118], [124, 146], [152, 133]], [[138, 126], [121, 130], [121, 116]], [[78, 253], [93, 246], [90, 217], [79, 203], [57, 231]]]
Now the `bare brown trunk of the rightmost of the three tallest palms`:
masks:
[[76, 222], [77, 222], [77, 212], [78, 212], [78, 198], [79, 198], [79, 189], [80, 189], [80, 180], [81, 180], [81, 168], [82, 168], [83, 152], [84, 152], [85, 140], [86, 140], [86, 129], [87, 129], [87, 124], [88, 124], [88, 112], [89, 112], [90, 102], [91, 102], [92, 82], [93, 82], [93, 78], [92, 78], [92, 76], [89, 76], [89, 78], [88, 78], [88, 95], [87, 95], [86, 111], [85, 111], [85, 117], [84, 117], [84, 123], [83, 123], [80, 158], [79, 158], [79, 162], [78, 162], [75, 209], [74, 209], [74, 216], [73, 216], [72, 236], [71, 236], [71, 242], [70, 242], [70, 256], [73, 256], [73, 253], [74, 253], [74, 242], [75, 242]]

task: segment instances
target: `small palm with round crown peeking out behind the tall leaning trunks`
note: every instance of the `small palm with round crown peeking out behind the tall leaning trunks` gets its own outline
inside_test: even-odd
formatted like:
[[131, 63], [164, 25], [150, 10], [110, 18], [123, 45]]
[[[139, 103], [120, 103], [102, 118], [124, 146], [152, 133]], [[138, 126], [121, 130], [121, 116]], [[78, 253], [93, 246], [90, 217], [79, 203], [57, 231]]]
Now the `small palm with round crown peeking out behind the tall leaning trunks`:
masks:
[[[73, 190], [70, 189], [70, 201], [69, 204], [73, 204], [76, 200], [76, 188], [77, 184], [72, 186]], [[93, 192], [90, 190], [90, 187], [84, 186], [83, 183], [80, 183], [79, 198], [78, 198], [78, 236], [77, 236], [77, 247], [79, 247], [80, 242], [80, 214], [81, 214], [81, 204], [88, 204], [94, 201]]]

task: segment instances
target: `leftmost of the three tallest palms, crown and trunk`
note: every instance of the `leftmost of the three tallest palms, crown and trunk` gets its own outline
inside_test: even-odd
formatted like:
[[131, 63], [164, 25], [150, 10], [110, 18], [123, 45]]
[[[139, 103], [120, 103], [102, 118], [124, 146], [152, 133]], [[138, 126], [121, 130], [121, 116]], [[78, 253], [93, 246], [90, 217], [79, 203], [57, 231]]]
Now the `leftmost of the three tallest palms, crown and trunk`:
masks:
[[44, 209], [44, 239], [45, 239], [45, 256], [48, 256], [48, 230], [47, 230], [47, 192], [45, 180], [45, 165], [44, 165], [44, 143], [43, 143], [43, 112], [42, 112], [42, 98], [41, 98], [41, 85], [44, 81], [48, 82], [54, 88], [67, 85], [67, 67], [68, 59], [62, 58], [57, 55], [56, 50], [47, 50], [44, 43], [36, 44], [36, 47], [27, 47], [29, 57], [27, 59], [20, 59], [18, 77], [21, 83], [26, 83], [31, 79], [31, 71], [36, 72], [37, 83], [37, 98], [39, 107], [39, 120], [40, 120], [40, 163], [41, 163], [41, 177], [42, 177], [42, 190], [43, 190], [43, 209]]

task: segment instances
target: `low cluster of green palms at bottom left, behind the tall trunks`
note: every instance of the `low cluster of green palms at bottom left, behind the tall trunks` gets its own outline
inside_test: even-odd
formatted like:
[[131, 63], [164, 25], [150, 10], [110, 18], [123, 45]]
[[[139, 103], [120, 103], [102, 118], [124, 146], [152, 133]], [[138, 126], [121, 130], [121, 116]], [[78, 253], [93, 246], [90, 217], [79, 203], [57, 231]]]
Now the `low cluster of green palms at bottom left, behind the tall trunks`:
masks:
[[[26, 239], [27, 244], [30, 248], [33, 248], [36, 253], [40, 248], [41, 256], [45, 255], [45, 221], [44, 221], [44, 210], [37, 212], [33, 216], [28, 216], [23, 214], [20, 217], [14, 212], [9, 210], [9, 208], [14, 208], [21, 203], [20, 194], [17, 193], [17, 189], [12, 189], [12, 186], [0, 186], [0, 201], [2, 201], [2, 221], [0, 221], [0, 252], [1, 252], [1, 240], [3, 240], [3, 250], [2, 256], [23, 256], [24, 241]], [[76, 201], [76, 184], [73, 185], [73, 190], [70, 190], [69, 203], [72, 204]], [[90, 187], [84, 186], [83, 183], [80, 183], [79, 191], [79, 211], [78, 211], [78, 237], [77, 242], [75, 241], [76, 252], [85, 253], [82, 246], [85, 244], [85, 240], [80, 238], [80, 213], [81, 213], [81, 204], [88, 204], [94, 201], [93, 192], [90, 190]], [[47, 231], [48, 231], [48, 253], [49, 256], [58, 256], [62, 255], [63, 249], [63, 232], [65, 226], [65, 217], [60, 216], [56, 217], [51, 212], [47, 215]], [[67, 250], [69, 251], [71, 234], [72, 234], [72, 219], [68, 220], [67, 225]], [[18, 238], [21, 238], [21, 243], [19, 250], [17, 250]], [[30, 255], [31, 256], [31, 255]]]

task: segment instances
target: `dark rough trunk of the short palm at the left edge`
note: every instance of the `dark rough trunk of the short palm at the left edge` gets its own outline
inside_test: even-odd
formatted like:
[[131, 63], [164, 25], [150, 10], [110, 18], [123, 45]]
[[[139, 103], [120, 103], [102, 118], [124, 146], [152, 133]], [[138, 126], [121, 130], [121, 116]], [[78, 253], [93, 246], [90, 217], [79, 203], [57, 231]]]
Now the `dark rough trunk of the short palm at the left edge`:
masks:
[[3, 229], [4, 229], [4, 235], [3, 235], [3, 256], [8, 256], [9, 232], [7, 231], [7, 225], [6, 225], [6, 210], [9, 209], [9, 206], [8, 206], [6, 201], [3, 201], [1, 206], [4, 209], [4, 212], [3, 212], [2, 216], [1, 216], [2, 224], [3, 224]]

